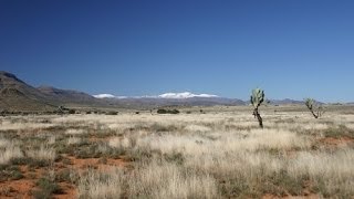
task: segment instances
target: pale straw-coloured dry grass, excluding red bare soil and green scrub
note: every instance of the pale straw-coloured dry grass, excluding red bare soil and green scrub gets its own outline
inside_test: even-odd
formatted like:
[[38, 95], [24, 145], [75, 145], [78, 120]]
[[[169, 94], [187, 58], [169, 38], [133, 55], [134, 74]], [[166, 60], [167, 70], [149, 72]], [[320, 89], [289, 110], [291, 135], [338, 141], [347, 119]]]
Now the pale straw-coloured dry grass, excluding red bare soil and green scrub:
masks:
[[[309, 191], [324, 198], [354, 196], [353, 145], [326, 146], [320, 142], [331, 128], [341, 130], [343, 125], [352, 129], [353, 116], [329, 113], [313, 119], [304, 112], [275, 113], [269, 108], [262, 112], [264, 129], [259, 129], [247, 107], [242, 107], [247, 112], [217, 108], [206, 109], [207, 114], [69, 115], [49, 121], [53, 126], [67, 126], [59, 128], [64, 145], [110, 132], [90, 153], [117, 150], [134, 160], [127, 170], [115, 167], [82, 174], [80, 198], [304, 197]], [[7, 119], [2, 123], [8, 125], [11, 122]], [[41, 119], [27, 123], [41, 126]], [[25, 126], [17, 129], [22, 128]], [[25, 155], [53, 161], [56, 142], [60, 139], [50, 137], [51, 147], [32, 148]], [[0, 139], [0, 150], [8, 148], [12, 154], [0, 155], [0, 164], [22, 156], [19, 145], [9, 146]]]

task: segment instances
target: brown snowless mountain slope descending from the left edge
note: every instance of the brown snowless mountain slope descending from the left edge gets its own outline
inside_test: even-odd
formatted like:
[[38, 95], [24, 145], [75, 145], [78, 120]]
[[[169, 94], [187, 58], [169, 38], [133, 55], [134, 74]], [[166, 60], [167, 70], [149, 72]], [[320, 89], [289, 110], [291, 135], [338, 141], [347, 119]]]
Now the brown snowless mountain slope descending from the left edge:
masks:
[[51, 86], [35, 88], [8, 72], [0, 72], [0, 111], [46, 112], [60, 105], [101, 105], [95, 97]]

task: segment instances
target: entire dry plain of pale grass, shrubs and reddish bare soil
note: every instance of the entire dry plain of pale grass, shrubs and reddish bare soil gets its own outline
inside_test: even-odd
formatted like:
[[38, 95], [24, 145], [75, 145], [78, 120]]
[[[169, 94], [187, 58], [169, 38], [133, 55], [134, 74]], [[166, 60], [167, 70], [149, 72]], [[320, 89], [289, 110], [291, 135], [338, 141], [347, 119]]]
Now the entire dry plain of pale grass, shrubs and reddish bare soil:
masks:
[[202, 108], [0, 117], [0, 198], [354, 198], [353, 107]]

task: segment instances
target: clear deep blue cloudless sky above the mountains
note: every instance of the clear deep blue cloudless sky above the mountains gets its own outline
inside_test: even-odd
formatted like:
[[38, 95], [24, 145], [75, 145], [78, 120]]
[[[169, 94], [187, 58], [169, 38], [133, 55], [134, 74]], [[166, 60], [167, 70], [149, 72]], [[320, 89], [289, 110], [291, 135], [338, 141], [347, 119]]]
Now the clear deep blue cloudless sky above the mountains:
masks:
[[0, 70], [90, 94], [354, 101], [354, 1], [0, 0]]

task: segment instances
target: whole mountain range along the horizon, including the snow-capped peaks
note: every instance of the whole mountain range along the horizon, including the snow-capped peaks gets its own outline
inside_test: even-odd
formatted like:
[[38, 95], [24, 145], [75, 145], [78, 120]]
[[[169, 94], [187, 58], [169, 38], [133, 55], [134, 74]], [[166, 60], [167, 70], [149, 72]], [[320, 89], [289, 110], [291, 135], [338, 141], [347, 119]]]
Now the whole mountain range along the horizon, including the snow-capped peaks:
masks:
[[[302, 101], [272, 100], [270, 104], [302, 104]], [[154, 108], [160, 106], [214, 106], [248, 105], [238, 98], [226, 98], [212, 94], [165, 93], [157, 96], [90, 95], [79, 91], [60, 90], [52, 86], [33, 87], [8, 72], [0, 72], [0, 112], [39, 111], [51, 112], [59, 106], [69, 107], [126, 107]]]

